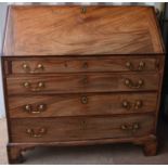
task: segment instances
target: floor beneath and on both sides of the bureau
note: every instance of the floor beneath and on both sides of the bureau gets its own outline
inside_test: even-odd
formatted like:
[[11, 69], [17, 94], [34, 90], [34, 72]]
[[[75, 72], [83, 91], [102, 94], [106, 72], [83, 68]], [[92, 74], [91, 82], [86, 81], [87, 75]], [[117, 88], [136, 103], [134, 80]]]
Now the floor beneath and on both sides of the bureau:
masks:
[[[160, 125], [160, 143], [157, 156], [146, 157], [142, 148], [132, 144], [109, 144], [75, 147], [37, 147], [26, 152], [25, 165], [139, 165], [168, 164], [168, 122]], [[8, 164], [5, 119], [0, 119], [0, 164]]]

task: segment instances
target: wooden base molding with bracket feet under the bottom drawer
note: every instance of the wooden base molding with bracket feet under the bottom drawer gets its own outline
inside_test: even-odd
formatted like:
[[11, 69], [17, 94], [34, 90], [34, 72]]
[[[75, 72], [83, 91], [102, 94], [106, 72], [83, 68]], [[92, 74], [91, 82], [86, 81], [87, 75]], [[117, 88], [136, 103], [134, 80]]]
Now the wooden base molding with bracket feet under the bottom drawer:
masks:
[[46, 142], [46, 143], [9, 143], [7, 145], [9, 164], [23, 163], [22, 153], [24, 151], [34, 150], [38, 146], [75, 146], [75, 145], [96, 145], [111, 143], [133, 143], [143, 147], [144, 155], [154, 156], [157, 152], [157, 139], [154, 134], [143, 138], [130, 139], [101, 139], [86, 141], [69, 141], [69, 142]]

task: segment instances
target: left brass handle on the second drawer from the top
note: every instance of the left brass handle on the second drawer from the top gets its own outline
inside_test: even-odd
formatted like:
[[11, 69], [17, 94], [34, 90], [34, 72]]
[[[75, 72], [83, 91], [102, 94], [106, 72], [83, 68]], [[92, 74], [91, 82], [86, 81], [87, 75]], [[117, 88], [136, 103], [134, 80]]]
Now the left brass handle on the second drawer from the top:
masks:
[[26, 89], [28, 89], [30, 91], [40, 91], [40, 90], [42, 90], [46, 87], [46, 83], [43, 81], [39, 81], [39, 82], [36, 83], [36, 87], [33, 88], [30, 82], [25, 81], [23, 83], [23, 86], [24, 86], [24, 88], [26, 88]]

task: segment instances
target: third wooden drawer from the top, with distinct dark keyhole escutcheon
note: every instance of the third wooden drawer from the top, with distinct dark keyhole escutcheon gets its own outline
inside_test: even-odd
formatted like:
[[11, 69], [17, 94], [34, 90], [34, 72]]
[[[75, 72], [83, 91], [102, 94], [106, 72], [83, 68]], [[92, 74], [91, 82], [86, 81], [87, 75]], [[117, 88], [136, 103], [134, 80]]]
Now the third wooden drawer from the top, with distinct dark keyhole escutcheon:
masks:
[[91, 116], [156, 111], [157, 93], [61, 94], [9, 98], [11, 118]]

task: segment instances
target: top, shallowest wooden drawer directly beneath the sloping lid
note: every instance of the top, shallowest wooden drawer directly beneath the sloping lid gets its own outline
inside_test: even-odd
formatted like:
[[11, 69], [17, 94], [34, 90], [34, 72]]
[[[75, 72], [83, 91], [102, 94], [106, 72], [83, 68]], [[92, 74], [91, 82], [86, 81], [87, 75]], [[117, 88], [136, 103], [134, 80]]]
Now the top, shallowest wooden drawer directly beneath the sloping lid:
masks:
[[12, 61], [13, 74], [76, 73], [76, 72], [148, 72], [157, 69], [156, 59], [111, 57], [38, 59]]

